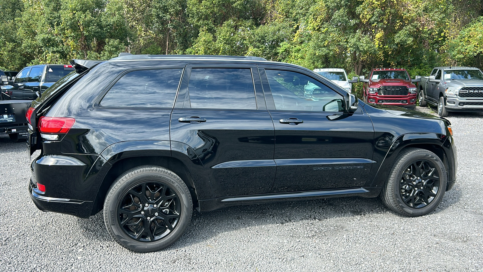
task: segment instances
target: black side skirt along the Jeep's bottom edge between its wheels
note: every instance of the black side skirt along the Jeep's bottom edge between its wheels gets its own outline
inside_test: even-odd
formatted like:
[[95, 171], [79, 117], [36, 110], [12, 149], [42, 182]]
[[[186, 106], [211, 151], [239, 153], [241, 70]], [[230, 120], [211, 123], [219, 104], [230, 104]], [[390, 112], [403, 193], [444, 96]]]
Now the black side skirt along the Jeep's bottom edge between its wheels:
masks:
[[222, 196], [199, 200], [199, 212], [211, 212], [220, 208], [238, 205], [262, 204], [280, 201], [298, 201], [308, 199], [333, 198], [344, 196], [376, 197], [382, 187], [359, 187], [339, 190], [321, 190], [309, 192], [294, 192], [284, 194], [263, 194], [248, 196]]

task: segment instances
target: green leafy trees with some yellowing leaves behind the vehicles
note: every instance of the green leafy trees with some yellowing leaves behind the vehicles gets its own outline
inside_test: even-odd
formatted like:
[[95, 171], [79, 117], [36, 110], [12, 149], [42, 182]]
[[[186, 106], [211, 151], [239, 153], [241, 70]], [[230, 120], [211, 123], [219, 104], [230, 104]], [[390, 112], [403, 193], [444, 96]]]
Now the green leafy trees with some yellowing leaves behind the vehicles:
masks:
[[[483, 0], [0, 0], [0, 67], [133, 54], [252, 55], [365, 75], [482, 67]], [[354, 85], [359, 94], [360, 84]]]

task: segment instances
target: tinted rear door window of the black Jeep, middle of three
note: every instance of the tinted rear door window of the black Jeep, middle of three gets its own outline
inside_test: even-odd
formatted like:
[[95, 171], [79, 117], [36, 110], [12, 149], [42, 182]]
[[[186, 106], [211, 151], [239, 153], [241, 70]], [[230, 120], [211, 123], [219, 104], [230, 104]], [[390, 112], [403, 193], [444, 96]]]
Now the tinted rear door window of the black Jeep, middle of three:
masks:
[[192, 108], [256, 109], [250, 69], [193, 68], [188, 92]]

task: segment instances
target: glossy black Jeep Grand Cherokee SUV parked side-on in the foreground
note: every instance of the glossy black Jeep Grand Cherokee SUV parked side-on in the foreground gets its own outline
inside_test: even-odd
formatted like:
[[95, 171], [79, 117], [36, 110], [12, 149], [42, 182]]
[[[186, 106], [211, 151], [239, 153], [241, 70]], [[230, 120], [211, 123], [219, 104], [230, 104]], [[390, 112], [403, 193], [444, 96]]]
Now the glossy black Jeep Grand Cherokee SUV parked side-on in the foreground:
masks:
[[27, 113], [42, 211], [104, 212], [122, 246], [175, 242], [193, 208], [381, 196], [433, 211], [456, 176], [449, 121], [358, 103], [297, 65], [255, 57], [73, 60]]

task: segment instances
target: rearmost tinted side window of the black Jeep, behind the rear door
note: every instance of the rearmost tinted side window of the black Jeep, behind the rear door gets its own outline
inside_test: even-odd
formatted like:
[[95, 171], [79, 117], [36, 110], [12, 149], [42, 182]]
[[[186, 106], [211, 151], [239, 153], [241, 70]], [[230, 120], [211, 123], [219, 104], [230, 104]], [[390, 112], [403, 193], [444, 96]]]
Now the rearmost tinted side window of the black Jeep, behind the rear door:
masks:
[[172, 107], [183, 69], [130, 72], [106, 93], [101, 106]]

